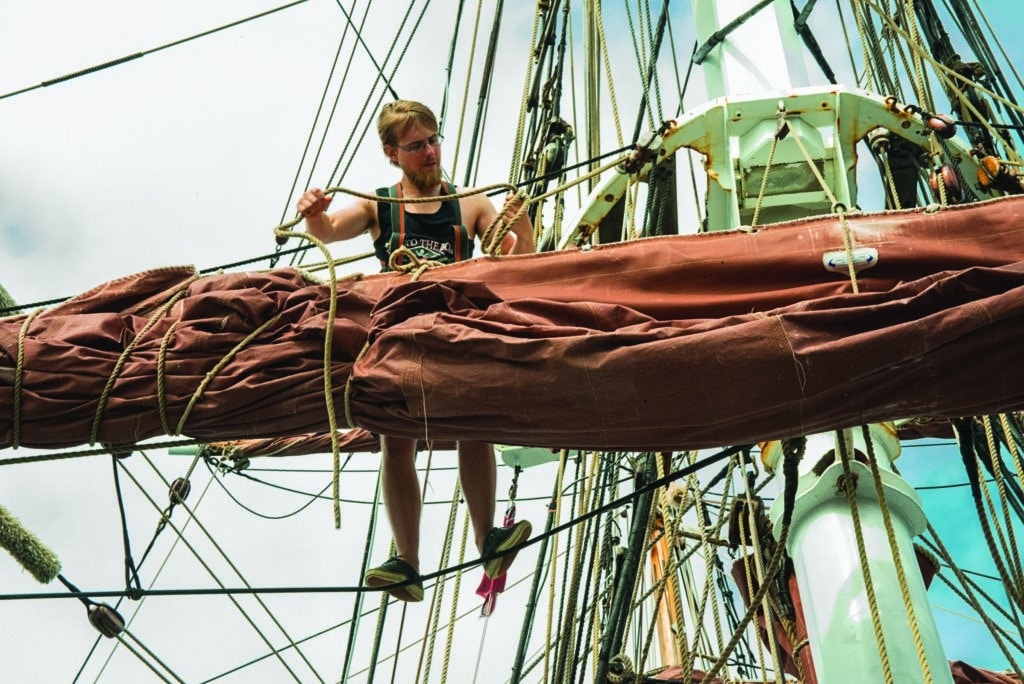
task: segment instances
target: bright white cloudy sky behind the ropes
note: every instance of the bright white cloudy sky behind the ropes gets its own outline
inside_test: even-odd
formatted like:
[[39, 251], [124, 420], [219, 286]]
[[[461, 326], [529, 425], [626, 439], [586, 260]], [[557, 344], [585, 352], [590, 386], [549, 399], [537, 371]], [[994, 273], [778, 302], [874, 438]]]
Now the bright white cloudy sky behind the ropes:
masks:
[[[986, 4], [991, 6], [997, 20], [1019, 25], [1011, 0]], [[3, 3], [0, 5], [0, 65], [3, 66], [0, 97], [275, 6], [265, 0]], [[426, 28], [394, 80], [401, 97], [421, 99], [439, 108], [439, 84], [445, 78], [444, 63], [454, 24], [453, 6], [453, 2], [434, 3], [428, 12]], [[364, 35], [378, 59], [394, 42], [394, 28], [403, 7], [402, 3], [374, 6]], [[467, 42], [472, 9], [467, 8], [463, 19]], [[498, 104], [488, 121], [487, 138], [481, 145], [484, 172], [478, 178], [480, 184], [508, 178], [513, 117], [522, 90], [522, 45], [531, 30], [532, 9], [534, 3], [506, 2], [499, 76], [492, 92]], [[679, 2], [674, 13], [679, 17], [674, 30], [682, 32], [684, 27], [688, 30], [685, 22], [688, 3]], [[490, 30], [489, 14], [481, 27], [478, 50], [482, 52]], [[606, 28], [610, 29], [608, 40], [613, 47], [632, 50], [621, 23]], [[273, 226], [283, 217], [292, 215], [294, 195], [290, 194], [290, 187], [343, 29], [344, 17], [333, 2], [310, 0], [124, 65], [0, 99], [0, 284], [18, 302], [27, 303], [77, 294], [106, 280], [155, 266], [208, 267], [271, 252]], [[677, 34], [676, 39], [689, 49], [691, 37], [683, 40]], [[351, 39], [345, 43], [344, 55], [350, 47]], [[339, 119], [332, 124], [324, 159], [312, 171], [308, 163], [302, 168], [300, 190], [310, 175], [313, 184], [327, 184], [343, 135], [351, 128], [368, 96], [373, 71], [362, 58], [364, 52], [359, 50], [357, 54], [359, 58], [343, 90]], [[465, 58], [458, 63], [464, 65]], [[478, 69], [469, 91], [470, 100], [476, 98]], [[465, 74], [464, 67], [457, 67], [456, 71], [453, 113], [459, 111], [461, 79]], [[629, 85], [620, 88], [621, 105], [625, 112], [633, 112], [635, 99], [630, 100]], [[699, 84], [696, 92], [699, 95]], [[671, 97], [667, 100], [674, 106]], [[628, 104], [623, 105], [624, 101]], [[374, 113], [376, 102], [375, 98], [371, 103]], [[630, 131], [634, 116], [625, 116]], [[454, 124], [453, 120], [445, 131], [447, 154], [454, 151]], [[368, 144], [340, 184], [369, 189], [393, 181], [394, 171], [385, 164], [374, 139], [371, 130]], [[617, 146], [610, 137], [606, 140], [605, 148]], [[461, 176], [462, 172], [458, 179]], [[368, 249], [369, 243], [341, 246], [336, 252]], [[265, 263], [253, 267], [263, 266]], [[376, 269], [372, 263], [362, 267]], [[23, 456], [27, 452], [31, 453], [20, 450], [2, 456]], [[188, 463], [184, 458], [168, 458], [163, 452], [151, 456], [156, 457], [155, 462], [168, 479], [181, 475]], [[452, 465], [446, 455], [443, 458], [444, 465]], [[295, 464], [321, 472], [268, 475], [266, 479], [304, 491], [319, 490], [328, 483], [329, 457], [289, 462]], [[370, 471], [376, 464], [376, 457], [353, 461], [353, 467]], [[143, 479], [150, 491], [163, 493], [157, 496], [158, 504], [164, 506], [166, 487], [145, 462], [136, 455], [129, 467]], [[190, 504], [199, 499], [209, 480], [202, 465], [200, 472], [194, 480]], [[121, 586], [120, 522], [108, 459], [17, 466], [3, 475], [0, 503], [57, 552], [70, 581], [82, 589], [114, 590]], [[499, 495], [507, 490], [508, 477], [508, 469], [501, 469]], [[430, 501], [451, 495], [451, 473], [445, 472], [439, 478], [443, 483], [436, 483], [428, 494]], [[521, 497], [550, 496], [553, 482], [550, 467], [527, 471], [523, 478], [527, 481]], [[304, 502], [302, 497], [250, 484], [241, 478], [228, 481], [232, 493], [264, 514], [283, 515]], [[343, 477], [342, 482], [343, 498], [369, 500], [375, 473], [353, 474]], [[130, 491], [126, 495], [127, 506], [137, 561], [158, 516], [130, 482], [122, 478], [122, 484]], [[328, 502], [318, 502], [298, 516], [282, 521], [259, 520], [224, 497], [214, 483], [200, 513], [217, 543], [243, 567], [251, 585], [308, 587], [358, 583], [353, 568], [362, 554], [368, 510], [369, 506], [345, 507], [341, 531], [332, 527]], [[428, 507], [425, 529], [441, 526], [447, 517], [446, 510], [444, 506]], [[545, 510], [543, 500], [524, 503], [519, 516], [529, 517], [541, 528]], [[185, 517], [180, 512], [177, 515], [175, 521], [180, 524]], [[172, 538], [170, 529], [161, 537], [155, 557], [147, 561], [143, 582], [152, 578], [156, 566], [168, 554]], [[376, 544], [374, 557], [379, 559], [385, 553], [386, 540], [378, 539]], [[527, 568], [532, 567], [535, 553], [536, 547], [523, 554], [510, 581], [525, 575]], [[202, 555], [204, 558], [213, 555], [209, 545], [202, 547]], [[423, 555], [426, 558], [429, 554]], [[425, 569], [431, 567], [429, 561], [424, 564]], [[218, 562], [217, 567], [218, 573], [225, 573], [224, 585], [242, 584], [226, 574], [223, 562]], [[158, 583], [161, 588], [214, 586], [181, 549], [170, 556], [164, 572], [164, 579]], [[466, 601], [470, 601], [477, 579], [476, 572], [467, 574], [467, 582], [474, 586], [463, 588]], [[510, 661], [510, 651], [518, 639], [527, 585], [528, 582], [510, 590], [500, 600], [499, 612], [487, 630], [489, 634], [484, 634], [475, 617], [464, 621], [471, 626], [457, 637], [454, 667], [459, 675], [453, 675], [453, 681], [470, 681], [477, 666], [478, 640], [486, 644], [484, 673], [488, 667]], [[5, 557], [0, 557], [0, 588], [3, 593], [59, 591], [55, 583], [39, 587]], [[351, 610], [348, 595], [270, 595], [265, 600], [296, 639], [348, 619]], [[251, 598], [241, 597], [240, 601], [247, 609], [253, 609]], [[375, 597], [371, 597], [370, 605], [376, 605]], [[463, 605], [468, 608], [470, 604]], [[427, 608], [422, 606], [414, 611], [416, 616], [410, 619], [415, 627], [410, 629], [419, 633], [422, 632], [419, 618], [427, 613]], [[130, 612], [127, 609], [124, 614]], [[0, 679], [72, 681], [96, 635], [84, 613], [81, 604], [74, 600], [0, 602], [0, 625], [5, 632], [0, 641]], [[265, 617], [259, 621], [261, 626], [267, 625]], [[266, 652], [252, 629], [222, 597], [146, 599], [139, 622], [130, 629], [189, 682], [215, 676]], [[364, 621], [359, 635], [364, 654], [372, 632], [372, 618]], [[340, 672], [345, 635], [345, 630], [335, 630], [328, 637], [303, 646], [328, 680]], [[271, 641], [281, 644], [282, 637], [274, 633]], [[112, 643], [106, 640], [101, 643], [103, 656]], [[970, 658], [970, 655], [967, 651], [957, 656]], [[310, 681], [308, 670], [294, 655], [286, 657], [303, 681]], [[81, 681], [94, 679], [102, 659], [93, 656]], [[357, 661], [365, 664], [365, 659]], [[403, 661], [402, 667], [408, 664]], [[415, 668], [415, 658], [412, 667]], [[436, 668], [439, 665], [435, 664]], [[507, 669], [499, 674], [505, 676]], [[390, 670], [386, 675], [379, 673], [378, 681], [389, 677]], [[220, 681], [287, 679], [287, 672], [270, 659]], [[407, 672], [398, 681], [411, 679], [412, 674]], [[101, 681], [158, 680], [135, 657], [119, 649]], [[479, 681], [493, 680], [484, 674]]]

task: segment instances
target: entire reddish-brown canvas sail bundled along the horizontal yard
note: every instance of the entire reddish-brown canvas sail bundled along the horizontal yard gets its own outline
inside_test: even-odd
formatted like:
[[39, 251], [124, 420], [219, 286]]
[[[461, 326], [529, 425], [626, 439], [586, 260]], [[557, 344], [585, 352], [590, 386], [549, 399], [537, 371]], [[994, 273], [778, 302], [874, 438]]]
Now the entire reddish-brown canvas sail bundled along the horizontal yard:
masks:
[[[1019, 410], [1022, 219], [1022, 199], [851, 216], [854, 244], [879, 254], [859, 295], [822, 267], [843, 249], [835, 218], [341, 281], [338, 427], [350, 378], [353, 422], [373, 432], [550, 447]], [[23, 445], [328, 432], [330, 299], [294, 269], [165, 268], [27, 326], [0, 319], [0, 447], [14, 441], [19, 338]]]

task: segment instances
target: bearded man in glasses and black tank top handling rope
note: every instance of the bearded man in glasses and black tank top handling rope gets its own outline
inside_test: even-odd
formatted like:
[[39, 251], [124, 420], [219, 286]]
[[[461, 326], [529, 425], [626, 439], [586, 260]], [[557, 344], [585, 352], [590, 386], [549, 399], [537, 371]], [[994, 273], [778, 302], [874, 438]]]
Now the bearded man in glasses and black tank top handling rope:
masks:
[[[440, 136], [437, 119], [426, 105], [411, 100], [385, 104], [377, 120], [384, 155], [401, 169], [401, 179], [392, 187], [378, 189], [378, 196], [393, 198], [436, 198], [456, 194], [454, 185], [441, 179]], [[383, 269], [399, 247], [421, 259], [454, 263], [473, 254], [473, 241], [481, 237], [497, 216], [494, 205], [483, 195], [426, 204], [395, 204], [359, 199], [331, 214], [333, 198], [313, 187], [302, 195], [297, 208], [305, 217], [309, 234], [324, 241], [350, 240], [370, 232], [374, 251]], [[511, 211], [511, 210], [510, 210]], [[511, 254], [536, 251], [534, 228], [523, 215], [511, 226], [515, 236]], [[413, 439], [381, 436], [381, 479], [384, 508], [394, 533], [397, 553], [382, 565], [369, 570], [364, 582], [369, 587], [388, 587], [402, 601], [422, 601], [420, 579], [420, 482], [416, 472], [416, 444]], [[483, 557], [502, 554], [486, 561], [483, 571], [495, 580], [508, 569], [517, 547], [532, 531], [520, 520], [510, 527], [495, 527], [496, 465], [494, 450], [485, 442], [460, 441], [459, 480], [462, 484], [476, 547]]]

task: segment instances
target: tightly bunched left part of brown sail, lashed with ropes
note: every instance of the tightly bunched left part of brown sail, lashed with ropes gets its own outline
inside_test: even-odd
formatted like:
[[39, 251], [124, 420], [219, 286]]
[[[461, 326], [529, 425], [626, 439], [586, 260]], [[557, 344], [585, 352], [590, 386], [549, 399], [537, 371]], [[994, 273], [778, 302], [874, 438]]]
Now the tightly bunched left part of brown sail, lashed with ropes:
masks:
[[[194, 279], [191, 268], [147, 271], [103, 284], [37, 316], [25, 337], [20, 443], [44, 448], [88, 443], [103, 387], [132, 341], [136, 345], [110, 392], [96, 442], [132, 443], [166, 434], [162, 405], [171, 434], [209, 441], [329, 432], [328, 288], [291, 269]], [[161, 305], [182, 290], [187, 294], [140, 335]], [[339, 390], [365, 344], [372, 305], [361, 295], [338, 295], [331, 377]], [[0, 320], [4, 446], [13, 436], [23, 323], [24, 317]], [[178, 430], [197, 389], [232, 351]]]

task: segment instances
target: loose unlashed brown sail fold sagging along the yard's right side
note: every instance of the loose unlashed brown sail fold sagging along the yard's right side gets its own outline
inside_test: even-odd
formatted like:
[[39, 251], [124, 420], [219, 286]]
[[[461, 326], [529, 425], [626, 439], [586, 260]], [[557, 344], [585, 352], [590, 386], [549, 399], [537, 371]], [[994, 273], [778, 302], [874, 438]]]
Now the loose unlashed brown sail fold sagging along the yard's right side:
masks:
[[383, 300], [371, 340], [351, 380], [353, 414], [371, 430], [714, 447], [1024, 407], [1024, 262], [682, 320], [412, 283]]

